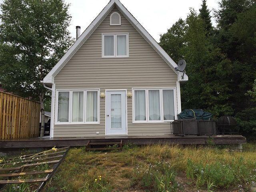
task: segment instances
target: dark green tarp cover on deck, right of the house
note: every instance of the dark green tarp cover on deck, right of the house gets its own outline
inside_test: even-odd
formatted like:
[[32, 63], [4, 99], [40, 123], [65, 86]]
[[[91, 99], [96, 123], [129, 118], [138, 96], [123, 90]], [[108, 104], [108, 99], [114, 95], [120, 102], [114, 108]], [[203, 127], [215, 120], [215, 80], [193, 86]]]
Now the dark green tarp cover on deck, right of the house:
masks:
[[185, 109], [180, 114], [178, 114], [178, 119], [194, 119], [197, 120], [210, 120], [212, 119], [212, 114], [206, 112], [202, 109]]

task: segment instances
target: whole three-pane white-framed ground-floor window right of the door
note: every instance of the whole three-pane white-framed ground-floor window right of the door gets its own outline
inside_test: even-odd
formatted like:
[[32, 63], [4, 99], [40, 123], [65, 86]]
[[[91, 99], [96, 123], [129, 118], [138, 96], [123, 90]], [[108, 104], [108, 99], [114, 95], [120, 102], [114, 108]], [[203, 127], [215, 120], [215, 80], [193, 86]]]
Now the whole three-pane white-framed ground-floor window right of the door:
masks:
[[174, 121], [175, 88], [132, 88], [132, 122], [158, 123]]

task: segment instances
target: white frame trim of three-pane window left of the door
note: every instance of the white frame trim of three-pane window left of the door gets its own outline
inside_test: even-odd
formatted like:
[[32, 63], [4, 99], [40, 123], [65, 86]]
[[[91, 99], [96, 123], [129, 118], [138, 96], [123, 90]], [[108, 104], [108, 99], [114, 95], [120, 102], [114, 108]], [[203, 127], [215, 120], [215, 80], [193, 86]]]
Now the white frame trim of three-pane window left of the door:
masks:
[[[84, 92], [84, 110], [83, 110], [83, 122], [72, 122], [72, 98], [73, 92]], [[98, 117], [95, 122], [87, 122], [86, 121], [86, 92], [87, 91], [97, 91], [98, 92]], [[69, 111], [68, 111], [68, 122], [58, 122], [58, 100], [59, 100], [59, 92], [69, 92]], [[54, 116], [54, 124], [55, 125], [77, 125], [77, 124], [100, 124], [100, 89], [56, 89], [56, 107], [55, 107], [55, 116]]]

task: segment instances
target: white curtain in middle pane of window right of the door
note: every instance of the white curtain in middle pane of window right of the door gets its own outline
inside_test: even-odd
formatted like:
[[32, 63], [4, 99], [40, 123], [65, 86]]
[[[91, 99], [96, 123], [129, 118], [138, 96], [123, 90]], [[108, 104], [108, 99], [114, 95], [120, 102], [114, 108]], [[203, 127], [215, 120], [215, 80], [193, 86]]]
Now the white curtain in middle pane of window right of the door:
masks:
[[149, 120], [161, 120], [159, 90], [148, 90], [148, 104], [149, 104]]

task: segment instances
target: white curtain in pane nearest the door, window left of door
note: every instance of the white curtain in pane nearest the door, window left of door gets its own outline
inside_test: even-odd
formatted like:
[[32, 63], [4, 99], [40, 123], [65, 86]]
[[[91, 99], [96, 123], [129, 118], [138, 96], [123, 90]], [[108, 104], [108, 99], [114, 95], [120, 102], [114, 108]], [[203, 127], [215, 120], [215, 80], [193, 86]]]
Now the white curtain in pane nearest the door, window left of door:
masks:
[[86, 96], [86, 121], [98, 121], [98, 92], [87, 91]]

